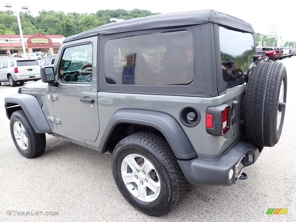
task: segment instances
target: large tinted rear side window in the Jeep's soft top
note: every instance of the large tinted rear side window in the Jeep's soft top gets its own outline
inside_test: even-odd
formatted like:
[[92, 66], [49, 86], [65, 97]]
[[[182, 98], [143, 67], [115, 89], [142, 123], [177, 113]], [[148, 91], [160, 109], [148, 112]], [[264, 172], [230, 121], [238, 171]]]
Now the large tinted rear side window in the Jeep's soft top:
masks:
[[186, 30], [112, 39], [104, 54], [108, 84], [185, 85], [194, 78], [192, 35]]

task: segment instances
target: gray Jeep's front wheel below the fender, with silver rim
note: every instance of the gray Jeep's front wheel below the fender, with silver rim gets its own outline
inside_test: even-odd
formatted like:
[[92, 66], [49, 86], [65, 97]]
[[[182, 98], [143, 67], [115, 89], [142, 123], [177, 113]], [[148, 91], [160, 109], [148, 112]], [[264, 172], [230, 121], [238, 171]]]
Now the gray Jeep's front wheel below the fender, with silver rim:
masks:
[[[23, 110], [12, 113], [10, 117], [10, 133], [15, 147], [22, 156], [33, 158], [40, 156], [44, 152], [46, 147], [45, 133], [35, 132]], [[15, 135], [18, 133], [20, 136]]]

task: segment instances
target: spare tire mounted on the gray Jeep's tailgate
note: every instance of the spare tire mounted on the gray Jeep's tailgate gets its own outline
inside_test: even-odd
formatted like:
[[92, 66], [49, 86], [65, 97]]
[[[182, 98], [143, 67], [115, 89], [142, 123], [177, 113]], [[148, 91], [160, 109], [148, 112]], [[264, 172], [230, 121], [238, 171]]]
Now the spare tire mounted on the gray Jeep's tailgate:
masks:
[[287, 99], [287, 71], [281, 62], [255, 66], [244, 103], [244, 130], [249, 141], [273, 147], [279, 141]]

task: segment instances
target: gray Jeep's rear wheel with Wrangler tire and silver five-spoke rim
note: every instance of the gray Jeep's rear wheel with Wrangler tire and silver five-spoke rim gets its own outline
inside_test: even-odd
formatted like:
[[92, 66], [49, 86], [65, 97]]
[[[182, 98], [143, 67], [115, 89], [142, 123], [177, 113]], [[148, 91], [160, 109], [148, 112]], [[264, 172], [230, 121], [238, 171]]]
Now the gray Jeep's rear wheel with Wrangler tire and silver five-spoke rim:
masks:
[[[128, 163], [127, 161], [136, 164], [133, 166], [130, 164], [132, 162]], [[130, 165], [134, 168], [133, 170]], [[150, 173], [141, 173], [147, 166], [152, 166]], [[135, 182], [126, 182], [127, 185], [125, 185], [122, 167], [126, 169], [124, 172], [131, 173], [132, 181]], [[135, 168], [139, 171], [136, 171]], [[134, 133], [122, 139], [112, 153], [112, 172], [123, 197], [134, 208], [148, 215], [162, 216], [169, 213], [185, 194], [186, 178], [176, 156], [166, 139], [155, 133]], [[134, 174], [135, 178], [133, 178]], [[147, 184], [144, 184], [146, 182]], [[141, 184], [144, 185], [141, 186]], [[156, 184], [155, 186], [158, 186], [158, 189], [155, 189], [157, 192], [152, 192], [152, 189], [149, 189], [149, 184]], [[147, 200], [136, 197], [141, 193], [138, 190], [146, 193], [145, 195], [150, 194], [145, 196]]]

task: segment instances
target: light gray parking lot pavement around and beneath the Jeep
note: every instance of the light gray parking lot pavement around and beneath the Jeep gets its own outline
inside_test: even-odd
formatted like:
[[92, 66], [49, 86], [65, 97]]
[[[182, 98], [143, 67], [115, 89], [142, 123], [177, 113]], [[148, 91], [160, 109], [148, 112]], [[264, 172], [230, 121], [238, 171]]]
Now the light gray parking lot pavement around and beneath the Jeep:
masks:
[[[18, 87], [0, 86], [0, 221], [295, 221], [296, 56], [281, 62], [288, 94], [279, 143], [244, 170], [247, 180], [228, 187], [189, 185], [182, 202], [160, 218], [140, 213], [121, 196], [108, 155], [46, 135], [43, 155], [22, 157], [3, 106]], [[268, 208], [288, 211], [266, 215]]]

